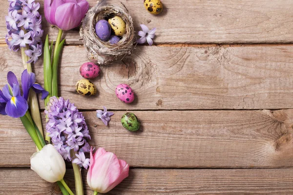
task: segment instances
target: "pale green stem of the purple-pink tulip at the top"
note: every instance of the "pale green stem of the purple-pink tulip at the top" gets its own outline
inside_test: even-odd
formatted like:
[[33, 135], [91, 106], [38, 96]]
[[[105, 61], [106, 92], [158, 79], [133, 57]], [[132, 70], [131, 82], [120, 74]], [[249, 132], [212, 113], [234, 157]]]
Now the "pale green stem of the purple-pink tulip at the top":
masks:
[[[61, 37], [62, 37], [63, 30], [59, 29], [58, 36], [55, 43], [54, 48], [54, 55], [53, 55], [53, 78], [52, 78], [52, 96], [58, 96], [58, 64], [59, 64], [59, 56], [60, 56], [60, 50], [58, 49]], [[58, 52], [59, 50], [59, 52]]]

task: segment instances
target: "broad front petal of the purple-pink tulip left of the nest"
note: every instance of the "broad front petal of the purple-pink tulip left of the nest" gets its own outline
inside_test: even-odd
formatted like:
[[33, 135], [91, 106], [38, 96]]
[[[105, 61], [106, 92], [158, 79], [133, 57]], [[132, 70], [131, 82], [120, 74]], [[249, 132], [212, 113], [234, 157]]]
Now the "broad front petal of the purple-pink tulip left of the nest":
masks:
[[77, 27], [82, 19], [82, 9], [75, 3], [64, 3], [57, 7], [55, 13], [56, 25], [62, 30], [70, 30]]

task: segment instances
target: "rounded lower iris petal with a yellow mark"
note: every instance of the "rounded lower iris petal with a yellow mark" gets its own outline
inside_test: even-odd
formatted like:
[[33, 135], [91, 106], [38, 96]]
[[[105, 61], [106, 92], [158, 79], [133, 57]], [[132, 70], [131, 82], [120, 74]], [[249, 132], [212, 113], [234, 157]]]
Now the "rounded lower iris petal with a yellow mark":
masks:
[[22, 96], [12, 97], [7, 102], [5, 112], [9, 117], [23, 117], [28, 109], [27, 101]]

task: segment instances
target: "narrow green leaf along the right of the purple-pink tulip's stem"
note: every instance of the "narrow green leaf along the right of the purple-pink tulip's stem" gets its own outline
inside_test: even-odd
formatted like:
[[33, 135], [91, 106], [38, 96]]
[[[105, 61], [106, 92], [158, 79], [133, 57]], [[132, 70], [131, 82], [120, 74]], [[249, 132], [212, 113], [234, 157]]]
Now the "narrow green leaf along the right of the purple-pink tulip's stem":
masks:
[[52, 78], [52, 96], [58, 97], [58, 64], [60, 53], [63, 48], [65, 39], [63, 39], [57, 47], [54, 60], [53, 60], [53, 78]]

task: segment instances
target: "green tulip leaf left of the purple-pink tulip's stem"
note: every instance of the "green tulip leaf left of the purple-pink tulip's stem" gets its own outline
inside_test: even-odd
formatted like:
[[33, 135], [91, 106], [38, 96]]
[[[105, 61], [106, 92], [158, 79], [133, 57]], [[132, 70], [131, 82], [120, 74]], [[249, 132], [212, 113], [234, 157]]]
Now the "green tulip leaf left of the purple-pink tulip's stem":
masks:
[[49, 102], [49, 98], [52, 96], [52, 66], [51, 66], [51, 55], [49, 49], [49, 38], [48, 35], [44, 44], [44, 89], [49, 92], [47, 98], [45, 98], [45, 106]]

